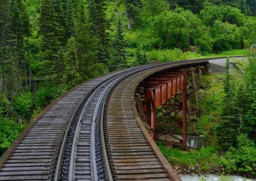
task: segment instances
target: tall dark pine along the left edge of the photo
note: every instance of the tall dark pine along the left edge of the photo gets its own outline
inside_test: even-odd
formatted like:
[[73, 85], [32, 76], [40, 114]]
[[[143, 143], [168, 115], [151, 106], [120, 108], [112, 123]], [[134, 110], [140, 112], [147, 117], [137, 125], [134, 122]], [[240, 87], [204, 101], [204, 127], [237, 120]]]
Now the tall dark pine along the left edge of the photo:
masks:
[[[0, 62], [2, 90], [4, 94], [12, 99], [13, 95], [21, 91], [19, 69], [17, 68], [17, 36], [13, 33], [11, 25], [10, 4], [8, 0], [0, 1]], [[12, 49], [11, 49], [12, 47]]]

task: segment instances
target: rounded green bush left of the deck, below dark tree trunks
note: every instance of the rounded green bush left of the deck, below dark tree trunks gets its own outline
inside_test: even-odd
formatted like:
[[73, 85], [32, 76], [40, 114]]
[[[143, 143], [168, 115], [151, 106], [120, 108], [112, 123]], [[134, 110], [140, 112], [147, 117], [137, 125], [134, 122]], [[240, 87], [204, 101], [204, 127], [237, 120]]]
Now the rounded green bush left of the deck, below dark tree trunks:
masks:
[[28, 118], [31, 113], [32, 95], [30, 92], [17, 94], [13, 101], [13, 110], [23, 118]]

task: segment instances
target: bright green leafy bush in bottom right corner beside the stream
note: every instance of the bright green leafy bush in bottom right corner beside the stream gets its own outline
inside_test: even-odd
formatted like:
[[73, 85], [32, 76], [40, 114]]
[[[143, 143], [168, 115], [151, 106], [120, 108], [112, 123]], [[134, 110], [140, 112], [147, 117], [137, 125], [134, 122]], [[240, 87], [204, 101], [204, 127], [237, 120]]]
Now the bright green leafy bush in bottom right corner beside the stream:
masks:
[[221, 158], [221, 164], [229, 173], [239, 172], [249, 176], [256, 175], [255, 143], [245, 134], [237, 137], [238, 147], [230, 148]]

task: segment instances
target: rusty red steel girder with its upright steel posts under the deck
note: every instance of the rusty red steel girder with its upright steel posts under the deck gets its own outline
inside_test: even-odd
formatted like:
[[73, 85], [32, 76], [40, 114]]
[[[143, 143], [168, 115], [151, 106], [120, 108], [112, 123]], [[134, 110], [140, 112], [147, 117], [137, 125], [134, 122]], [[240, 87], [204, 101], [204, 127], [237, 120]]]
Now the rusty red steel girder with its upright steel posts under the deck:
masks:
[[[145, 122], [152, 128], [152, 138], [156, 139], [156, 114], [157, 108], [164, 105], [166, 101], [182, 92], [182, 127], [183, 127], [183, 148], [186, 149], [186, 121], [187, 121], [187, 82], [188, 76], [185, 70], [164, 72], [158, 75], [150, 76], [140, 83], [144, 94], [140, 102], [145, 116]], [[140, 106], [140, 105], [139, 105]], [[141, 115], [141, 108], [137, 103], [138, 111]], [[168, 126], [173, 124], [166, 123]]]

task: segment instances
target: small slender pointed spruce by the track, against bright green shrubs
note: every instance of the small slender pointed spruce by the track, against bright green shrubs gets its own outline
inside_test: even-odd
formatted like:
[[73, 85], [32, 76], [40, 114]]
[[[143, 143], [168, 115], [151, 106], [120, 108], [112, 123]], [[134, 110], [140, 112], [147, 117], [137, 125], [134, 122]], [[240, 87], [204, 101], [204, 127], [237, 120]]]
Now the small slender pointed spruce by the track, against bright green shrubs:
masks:
[[118, 18], [116, 35], [113, 40], [113, 52], [112, 61], [110, 64], [110, 70], [122, 69], [126, 66], [126, 55], [125, 55], [125, 41], [124, 41], [124, 31], [122, 28], [122, 21]]

